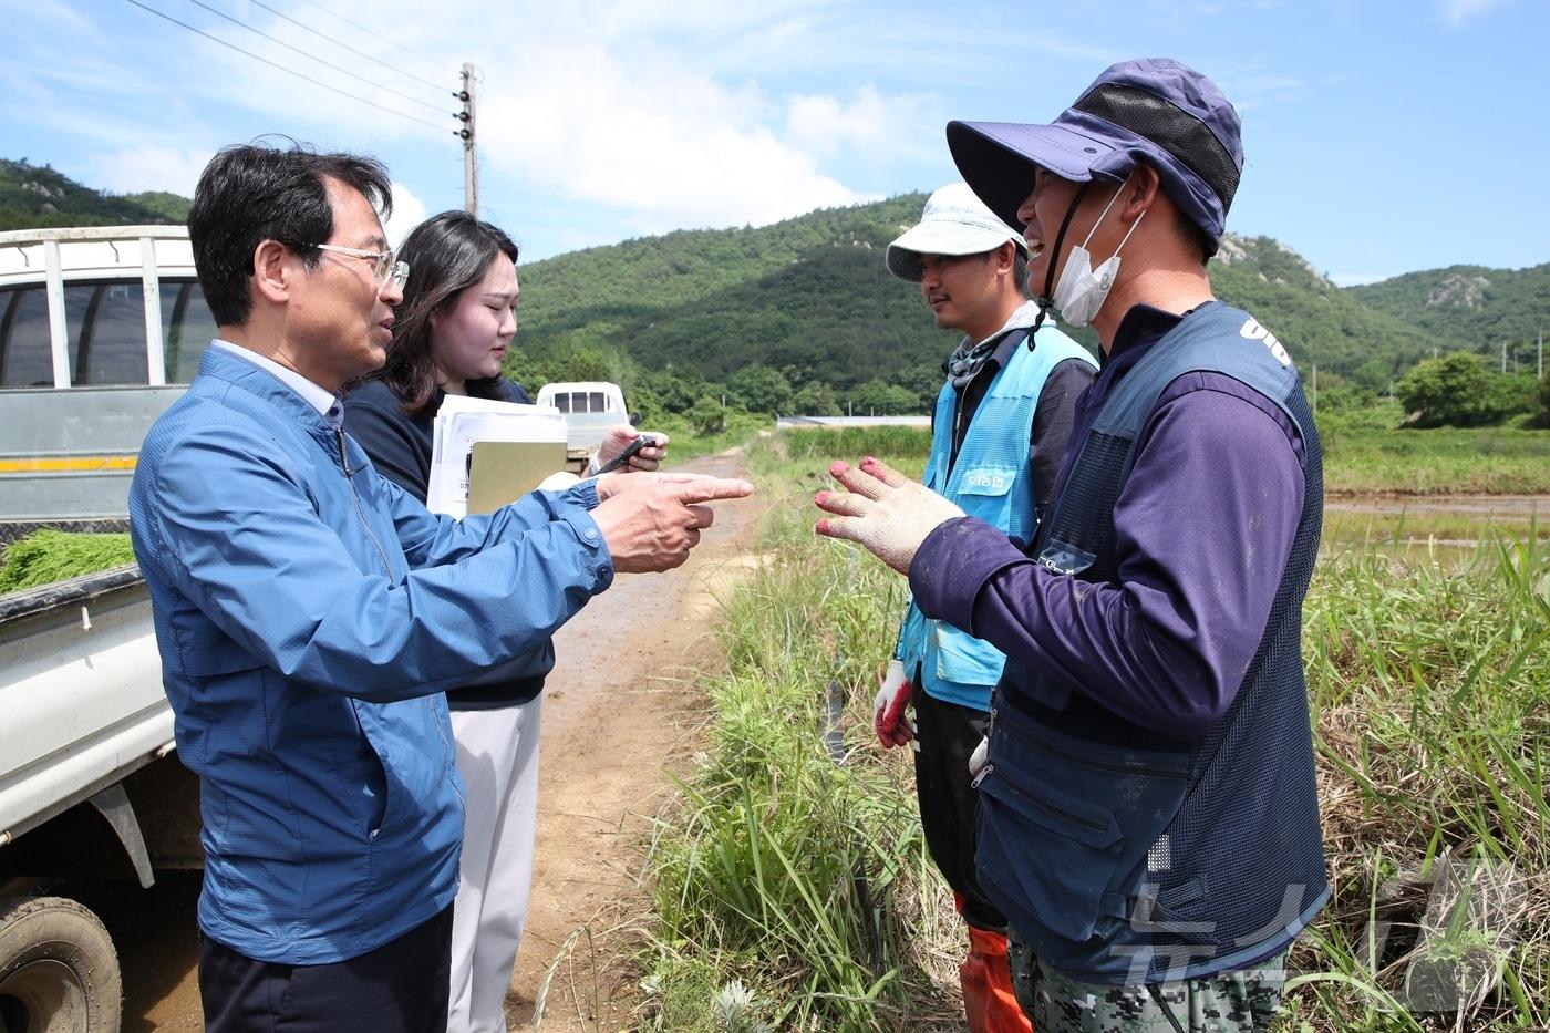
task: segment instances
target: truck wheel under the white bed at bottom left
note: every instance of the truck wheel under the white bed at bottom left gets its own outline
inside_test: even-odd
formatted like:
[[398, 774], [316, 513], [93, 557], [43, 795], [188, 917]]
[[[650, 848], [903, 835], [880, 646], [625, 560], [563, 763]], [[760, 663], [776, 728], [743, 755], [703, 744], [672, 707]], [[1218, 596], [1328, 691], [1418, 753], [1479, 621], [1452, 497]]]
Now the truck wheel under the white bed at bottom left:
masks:
[[64, 897], [0, 900], [0, 1030], [118, 1033], [124, 986], [107, 929]]

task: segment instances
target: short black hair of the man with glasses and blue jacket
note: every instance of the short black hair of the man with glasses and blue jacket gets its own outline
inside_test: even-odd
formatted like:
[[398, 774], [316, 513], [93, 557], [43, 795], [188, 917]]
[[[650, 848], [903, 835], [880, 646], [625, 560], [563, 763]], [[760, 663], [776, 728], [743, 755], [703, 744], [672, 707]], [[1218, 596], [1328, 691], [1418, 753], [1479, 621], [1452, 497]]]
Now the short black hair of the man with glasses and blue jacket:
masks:
[[384, 217], [392, 211], [392, 181], [375, 158], [291, 143], [284, 150], [234, 144], [209, 160], [189, 208], [189, 242], [217, 326], [248, 321], [248, 278], [262, 240], [284, 244], [308, 268], [318, 264], [316, 245], [333, 236], [329, 178], [360, 191]]

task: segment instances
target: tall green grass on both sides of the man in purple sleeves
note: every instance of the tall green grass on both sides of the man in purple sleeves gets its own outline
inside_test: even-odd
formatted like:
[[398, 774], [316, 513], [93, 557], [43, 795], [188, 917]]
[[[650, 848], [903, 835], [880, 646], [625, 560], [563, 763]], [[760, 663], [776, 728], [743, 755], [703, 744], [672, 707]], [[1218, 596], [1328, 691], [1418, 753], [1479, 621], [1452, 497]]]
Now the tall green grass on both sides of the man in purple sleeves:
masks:
[[[707, 752], [656, 842], [654, 1028], [961, 1028], [961, 926], [908, 758], [866, 720], [904, 582], [811, 534], [831, 459], [919, 472], [924, 436], [894, 434], [750, 448], [770, 561], [725, 600]], [[1550, 543], [1485, 538], [1321, 560], [1305, 661], [1333, 897], [1279, 1030], [1550, 1028]]]

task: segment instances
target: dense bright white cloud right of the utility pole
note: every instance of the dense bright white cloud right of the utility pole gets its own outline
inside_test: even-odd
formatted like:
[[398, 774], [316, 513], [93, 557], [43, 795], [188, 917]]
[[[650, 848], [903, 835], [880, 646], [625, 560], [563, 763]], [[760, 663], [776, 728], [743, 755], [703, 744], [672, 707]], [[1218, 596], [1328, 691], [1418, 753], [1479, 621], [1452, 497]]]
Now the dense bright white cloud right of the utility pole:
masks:
[[[636, 231], [766, 223], [871, 199], [820, 160], [840, 140], [885, 143], [868, 119], [887, 107], [876, 93], [783, 105], [671, 53], [586, 40], [522, 45], [512, 64], [521, 76], [485, 84], [487, 160], [542, 192], [622, 209]], [[820, 143], [825, 130], [837, 135]]]

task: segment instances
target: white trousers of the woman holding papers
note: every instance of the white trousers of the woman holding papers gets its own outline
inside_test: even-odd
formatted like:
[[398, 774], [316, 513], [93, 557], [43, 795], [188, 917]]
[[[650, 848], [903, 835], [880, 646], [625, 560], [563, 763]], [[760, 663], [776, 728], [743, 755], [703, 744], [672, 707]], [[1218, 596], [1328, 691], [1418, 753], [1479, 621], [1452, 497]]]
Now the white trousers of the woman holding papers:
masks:
[[457, 771], [468, 785], [468, 821], [453, 904], [448, 1033], [505, 1031], [505, 991], [533, 881], [542, 700], [539, 695], [496, 710], [453, 710]]

